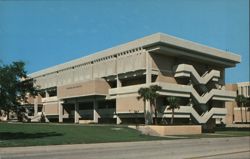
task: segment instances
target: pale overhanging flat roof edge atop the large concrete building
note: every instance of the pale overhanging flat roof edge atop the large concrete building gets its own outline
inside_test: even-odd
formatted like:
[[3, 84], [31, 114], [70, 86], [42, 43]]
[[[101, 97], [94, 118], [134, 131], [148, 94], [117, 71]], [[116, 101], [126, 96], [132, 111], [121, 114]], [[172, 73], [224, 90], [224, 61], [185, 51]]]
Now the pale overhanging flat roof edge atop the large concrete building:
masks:
[[225, 60], [232, 64], [239, 63], [241, 61], [241, 57], [235, 53], [223, 51], [220, 49], [208, 47], [206, 45], [202, 45], [199, 43], [195, 43], [192, 41], [184, 40], [181, 38], [177, 38], [174, 36], [170, 36], [163, 33], [155, 33], [125, 44], [121, 44], [103, 51], [96, 52], [94, 54], [84, 56], [82, 58], [78, 58], [69, 62], [65, 62], [63, 64], [55, 65], [34, 73], [29, 74], [28, 76], [31, 78], [42, 76], [45, 74], [53, 73], [59, 70], [63, 70], [66, 68], [74, 67], [77, 65], [81, 65], [84, 63], [88, 63], [103, 57], [112, 56], [127, 50], [135, 49], [135, 48], [147, 48], [154, 45], [165, 44], [170, 46], [175, 46], [177, 48], [186, 49], [193, 51], [194, 54], [204, 55], [204, 57], [211, 58], [219, 58], [221, 60]]

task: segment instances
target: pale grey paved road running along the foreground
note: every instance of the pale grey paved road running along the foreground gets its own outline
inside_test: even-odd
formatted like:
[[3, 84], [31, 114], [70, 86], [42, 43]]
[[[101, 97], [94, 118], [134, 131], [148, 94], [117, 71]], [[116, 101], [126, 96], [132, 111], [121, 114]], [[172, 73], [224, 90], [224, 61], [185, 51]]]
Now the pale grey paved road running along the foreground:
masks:
[[250, 137], [0, 148], [0, 159], [250, 159]]

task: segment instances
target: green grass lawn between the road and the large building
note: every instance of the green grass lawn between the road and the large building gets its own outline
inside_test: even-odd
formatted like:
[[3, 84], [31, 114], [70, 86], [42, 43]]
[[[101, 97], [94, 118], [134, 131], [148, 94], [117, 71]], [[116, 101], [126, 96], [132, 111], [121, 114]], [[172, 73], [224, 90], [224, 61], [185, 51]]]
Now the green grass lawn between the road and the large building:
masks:
[[250, 136], [250, 131], [220, 130], [201, 135], [153, 137], [116, 125], [0, 123], [0, 147]]

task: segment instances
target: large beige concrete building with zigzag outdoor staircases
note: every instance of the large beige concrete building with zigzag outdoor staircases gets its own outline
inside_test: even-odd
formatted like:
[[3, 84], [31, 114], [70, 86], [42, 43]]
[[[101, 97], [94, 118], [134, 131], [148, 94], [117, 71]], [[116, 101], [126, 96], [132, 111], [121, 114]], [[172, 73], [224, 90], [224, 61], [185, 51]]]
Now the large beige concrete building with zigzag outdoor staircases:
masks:
[[[225, 69], [239, 62], [231, 52], [156, 33], [30, 74], [41, 89], [34, 110], [59, 122], [143, 123], [138, 89], [159, 85], [159, 120], [171, 117], [166, 97], [178, 96], [176, 122], [204, 124], [225, 117], [225, 102], [236, 96], [225, 88]], [[146, 111], [154, 117], [148, 102]]]

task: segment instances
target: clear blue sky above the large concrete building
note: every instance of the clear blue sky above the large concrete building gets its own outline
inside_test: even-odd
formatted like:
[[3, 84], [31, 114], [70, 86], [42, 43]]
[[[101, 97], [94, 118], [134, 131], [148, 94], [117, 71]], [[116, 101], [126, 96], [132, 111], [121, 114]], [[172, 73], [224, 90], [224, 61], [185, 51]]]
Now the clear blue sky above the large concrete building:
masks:
[[156, 32], [241, 55], [226, 82], [249, 81], [248, 0], [0, 0], [0, 60], [28, 73]]

